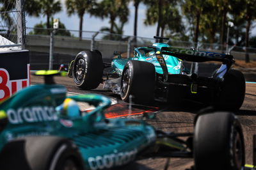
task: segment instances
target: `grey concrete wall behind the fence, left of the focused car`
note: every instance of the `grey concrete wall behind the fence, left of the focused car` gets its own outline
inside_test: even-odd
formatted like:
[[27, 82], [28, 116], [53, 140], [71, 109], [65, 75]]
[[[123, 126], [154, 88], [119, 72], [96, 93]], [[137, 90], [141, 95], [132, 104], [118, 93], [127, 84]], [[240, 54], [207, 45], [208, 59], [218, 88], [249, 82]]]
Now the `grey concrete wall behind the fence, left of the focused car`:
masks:
[[[82, 50], [90, 50], [91, 40], [79, 40], [74, 37], [54, 36], [54, 68], [68, 64]], [[27, 35], [26, 49], [31, 57], [31, 69], [47, 69], [49, 63], [50, 36]], [[95, 48], [100, 50], [105, 61], [111, 61], [113, 51], [127, 51], [127, 42], [95, 40]], [[40, 67], [41, 66], [41, 67]]]

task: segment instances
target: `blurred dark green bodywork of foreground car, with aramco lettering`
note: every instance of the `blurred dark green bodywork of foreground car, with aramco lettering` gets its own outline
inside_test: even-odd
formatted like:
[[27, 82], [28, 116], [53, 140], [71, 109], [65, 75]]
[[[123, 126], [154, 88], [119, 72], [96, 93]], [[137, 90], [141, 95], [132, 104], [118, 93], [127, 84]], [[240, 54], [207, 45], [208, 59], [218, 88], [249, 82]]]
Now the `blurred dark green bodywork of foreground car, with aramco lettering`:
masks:
[[[104, 109], [111, 101], [101, 95], [66, 97], [66, 88], [56, 84], [39, 84], [17, 92], [0, 104], [1, 118], [8, 123], [0, 134], [0, 151], [17, 137], [56, 135], [77, 145], [86, 169], [108, 169], [131, 162], [137, 153], [156, 141], [154, 128], [144, 121], [111, 119]], [[65, 98], [95, 106], [81, 112], [79, 118], [61, 115], [56, 107]]]

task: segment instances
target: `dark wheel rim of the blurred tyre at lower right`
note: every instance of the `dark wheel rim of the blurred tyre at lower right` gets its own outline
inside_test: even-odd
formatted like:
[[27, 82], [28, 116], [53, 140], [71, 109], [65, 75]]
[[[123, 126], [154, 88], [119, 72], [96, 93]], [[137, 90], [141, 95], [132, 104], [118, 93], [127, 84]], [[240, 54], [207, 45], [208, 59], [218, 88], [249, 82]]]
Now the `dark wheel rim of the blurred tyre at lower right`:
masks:
[[235, 166], [241, 168], [243, 166], [243, 143], [241, 141], [241, 135], [236, 132], [234, 138], [234, 160]]

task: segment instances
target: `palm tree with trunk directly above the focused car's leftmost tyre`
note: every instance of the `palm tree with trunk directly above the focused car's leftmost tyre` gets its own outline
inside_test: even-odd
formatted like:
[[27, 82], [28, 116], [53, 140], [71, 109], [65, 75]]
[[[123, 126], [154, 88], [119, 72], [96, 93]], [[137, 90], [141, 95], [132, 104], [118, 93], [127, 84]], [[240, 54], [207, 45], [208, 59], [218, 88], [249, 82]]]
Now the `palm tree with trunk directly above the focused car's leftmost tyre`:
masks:
[[65, 4], [67, 7], [68, 16], [77, 13], [79, 17], [79, 39], [82, 40], [84, 13], [92, 10], [95, 0], [66, 0]]

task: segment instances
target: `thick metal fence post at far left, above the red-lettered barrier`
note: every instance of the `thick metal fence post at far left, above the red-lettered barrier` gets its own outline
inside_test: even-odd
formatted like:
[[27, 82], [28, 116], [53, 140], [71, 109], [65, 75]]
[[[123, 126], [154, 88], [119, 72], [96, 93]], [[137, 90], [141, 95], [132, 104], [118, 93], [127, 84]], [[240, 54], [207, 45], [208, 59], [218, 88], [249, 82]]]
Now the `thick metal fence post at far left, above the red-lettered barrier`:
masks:
[[17, 13], [17, 43], [21, 44], [21, 49], [25, 49], [25, 15], [24, 0], [16, 0]]

